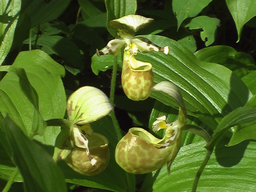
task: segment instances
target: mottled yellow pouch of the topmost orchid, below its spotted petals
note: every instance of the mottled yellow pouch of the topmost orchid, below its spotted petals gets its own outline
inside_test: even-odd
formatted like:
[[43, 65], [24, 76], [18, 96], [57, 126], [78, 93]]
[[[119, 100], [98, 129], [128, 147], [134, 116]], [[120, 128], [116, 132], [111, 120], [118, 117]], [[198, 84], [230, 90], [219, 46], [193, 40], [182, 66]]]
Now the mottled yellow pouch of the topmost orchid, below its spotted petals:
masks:
[[[154, 86], [154, 75], [150, 63], [138, 61], [135, 58], [138, 49], [136, 45], [130, 45], [124, 50], [124, 60], [122, 69], [122, 86], [124, 93], [131, 100], [145, 100], [152, 93]], [[130, 52], [132, 52], [130, 54]]]

